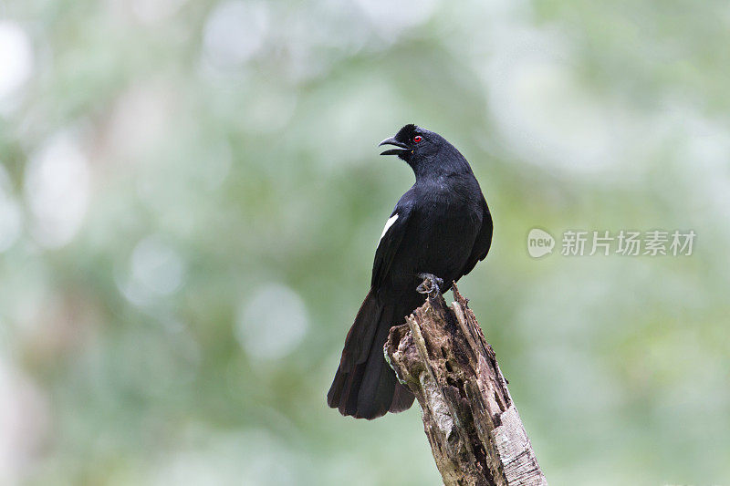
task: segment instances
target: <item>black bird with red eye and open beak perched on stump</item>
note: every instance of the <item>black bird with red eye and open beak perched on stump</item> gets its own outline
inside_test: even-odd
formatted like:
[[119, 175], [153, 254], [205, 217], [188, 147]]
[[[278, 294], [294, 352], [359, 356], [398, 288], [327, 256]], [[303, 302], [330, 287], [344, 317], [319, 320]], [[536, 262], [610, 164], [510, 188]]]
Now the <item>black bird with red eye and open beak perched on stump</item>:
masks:
[[[424, 274], [442, 281], [441, 291], [483, 260], [492, 243], [492, 216], [469, 162], [438, 133], [406, 125], [380, 145], [416, 176], [382, 231], [372, 265], [370, 292], [345, 338], [339, 368], [327, 394], [331, 408], [357, 419], [400, 412], [413, 394], [385, 362], [391, 326], [405, 322], [423, 296]], [[433, 282], [432, 280], [432, 282]]]

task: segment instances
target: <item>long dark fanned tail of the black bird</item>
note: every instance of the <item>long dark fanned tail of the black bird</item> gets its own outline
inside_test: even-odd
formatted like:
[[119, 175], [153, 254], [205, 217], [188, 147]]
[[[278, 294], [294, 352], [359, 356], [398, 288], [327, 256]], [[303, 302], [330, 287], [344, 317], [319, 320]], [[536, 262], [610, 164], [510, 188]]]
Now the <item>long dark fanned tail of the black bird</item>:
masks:
[[402, 324], [409, 305], [381, 304], [370, 289], [345, 338], [339, 368], [327, 394], [331, 408], [356, 419], [376, 419], [400, 412], [413, 403], [413, 394], [385, 362], [383, 346], [391, 326]]

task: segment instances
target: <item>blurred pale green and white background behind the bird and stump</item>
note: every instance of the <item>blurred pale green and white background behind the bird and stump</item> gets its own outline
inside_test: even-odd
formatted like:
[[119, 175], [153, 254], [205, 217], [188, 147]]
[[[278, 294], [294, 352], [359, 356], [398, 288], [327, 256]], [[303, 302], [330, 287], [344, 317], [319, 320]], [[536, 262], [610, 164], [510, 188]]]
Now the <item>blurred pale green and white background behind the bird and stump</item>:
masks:
[[[439, 484], [417, 406], [325, 403], [409, 122], [494, 213], [460, 288], [548, 481], [730, 484], [725, 2], [18, 0], [0, 33], [3, 484]], [[533, 227], [697, 238], [535, 260]]]

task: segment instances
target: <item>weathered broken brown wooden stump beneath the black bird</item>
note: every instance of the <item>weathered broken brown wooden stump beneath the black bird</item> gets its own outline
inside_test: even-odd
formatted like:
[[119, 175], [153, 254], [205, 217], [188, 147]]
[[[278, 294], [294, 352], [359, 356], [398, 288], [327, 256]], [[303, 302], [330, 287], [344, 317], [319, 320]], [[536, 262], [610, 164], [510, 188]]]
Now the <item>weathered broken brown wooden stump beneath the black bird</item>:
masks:
[[547, 485], [495, 352], [467, 300], [429, 296], [391, 328], [385, 356], [422, 409], [445, 486]]

